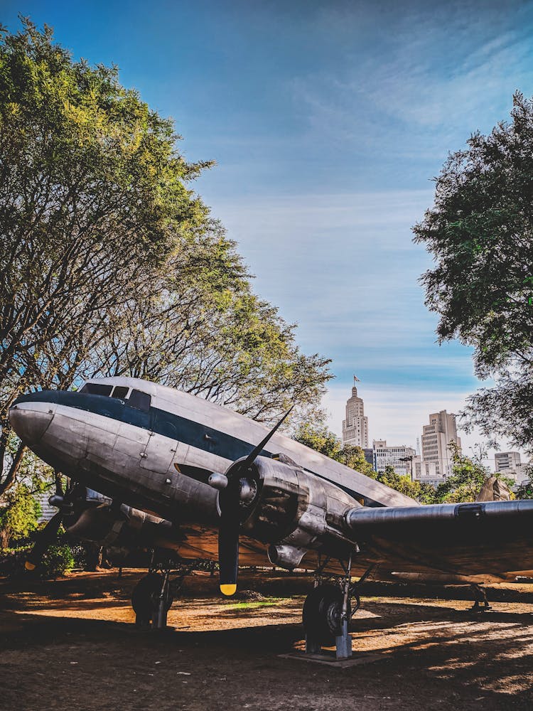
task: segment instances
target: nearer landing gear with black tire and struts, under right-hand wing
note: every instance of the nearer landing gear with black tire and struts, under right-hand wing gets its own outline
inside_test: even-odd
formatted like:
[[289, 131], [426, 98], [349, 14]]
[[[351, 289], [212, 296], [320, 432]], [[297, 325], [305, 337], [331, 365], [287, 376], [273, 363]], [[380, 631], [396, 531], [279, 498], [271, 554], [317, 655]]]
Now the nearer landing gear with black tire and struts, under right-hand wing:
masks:
[[348, 659], [352, 656], [352, 638], [348, 634], [348, 625], [352, 618], [350, 598], [355, 597], [355, 609], [360, 604], [350, 581], [352, 557], [350, 555], [348, 563], [343, 565], [345, 575], [338, 577], [337, 584], [322, 582], [322, 571], [327, 563], [328, 559], [323, 564], [319, 561], [315, 587], [303, 604], [306, 654], [319, 654], [322, 647], [335, 644], [335, 657]]

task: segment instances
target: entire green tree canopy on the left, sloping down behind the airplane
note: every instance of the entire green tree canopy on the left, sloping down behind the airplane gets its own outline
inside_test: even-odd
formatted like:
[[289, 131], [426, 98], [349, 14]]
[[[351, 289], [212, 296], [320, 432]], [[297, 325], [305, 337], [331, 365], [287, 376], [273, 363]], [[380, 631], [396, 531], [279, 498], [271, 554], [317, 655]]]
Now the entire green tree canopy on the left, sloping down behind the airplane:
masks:
[[318, 403], [329, 361], [253, 293], [191, 187], [212, 162], [179, 139], [117, 68], [28, 19], [0, 31], [0, 495], [23, 462], [7, 412], [24, 391], [132, 375], [264, 422]]

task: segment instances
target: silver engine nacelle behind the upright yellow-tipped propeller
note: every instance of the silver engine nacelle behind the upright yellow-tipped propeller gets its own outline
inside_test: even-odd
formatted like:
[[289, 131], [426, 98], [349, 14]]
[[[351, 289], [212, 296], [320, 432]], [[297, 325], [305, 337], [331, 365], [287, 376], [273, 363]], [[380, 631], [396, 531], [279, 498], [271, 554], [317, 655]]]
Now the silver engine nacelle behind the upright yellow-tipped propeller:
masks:
[[249, 474], [241, 479], [241, 530], [271, 544], [274, 565], [292, 570], [308, 550], [338, 551], [342, 542], [353, 547], [344, 533], [344, 517], [360, 504], [348, 493], [284, 454], [258, 456]]

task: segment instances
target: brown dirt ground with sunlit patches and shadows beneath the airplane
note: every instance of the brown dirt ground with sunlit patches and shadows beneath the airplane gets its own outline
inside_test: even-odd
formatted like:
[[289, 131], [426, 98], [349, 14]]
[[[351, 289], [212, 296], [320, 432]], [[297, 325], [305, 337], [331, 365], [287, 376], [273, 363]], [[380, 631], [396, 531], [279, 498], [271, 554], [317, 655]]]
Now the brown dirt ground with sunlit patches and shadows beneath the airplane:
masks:
[[533, 710], [532, 586], [494, 586], [474, 614], [463, 589], [367, 584], [357, 664], [332, 668], [280, 656], [303, 645], [306, 576], [243, 575], [261, 595], [224, 601], [195, 574], [158, 632], [132, 624], [142, 574], [0, 580], [0, 709]]

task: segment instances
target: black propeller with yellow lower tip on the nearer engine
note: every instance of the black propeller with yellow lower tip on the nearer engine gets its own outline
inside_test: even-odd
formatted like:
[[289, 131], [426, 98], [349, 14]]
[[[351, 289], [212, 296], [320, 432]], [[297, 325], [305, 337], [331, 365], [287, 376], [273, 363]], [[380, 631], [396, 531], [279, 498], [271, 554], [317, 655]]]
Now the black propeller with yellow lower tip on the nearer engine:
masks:
[[252, 465], [293, 407], [294, 405], [287, 410], [279, 422], [262, 439], [262, 442], [252, 449], [246, 459], [235, 461], [225, 475], [215, 473], [210, 476], [211, 486], [219, 490], [218, 563], [220, 592], [226, 597], [231, 597], [237, 592], [239, 529], [247, 507], [254, 501], [257, 494], [257, 483], [252, 478]]

